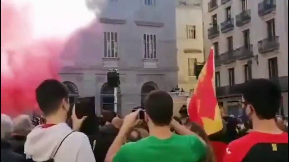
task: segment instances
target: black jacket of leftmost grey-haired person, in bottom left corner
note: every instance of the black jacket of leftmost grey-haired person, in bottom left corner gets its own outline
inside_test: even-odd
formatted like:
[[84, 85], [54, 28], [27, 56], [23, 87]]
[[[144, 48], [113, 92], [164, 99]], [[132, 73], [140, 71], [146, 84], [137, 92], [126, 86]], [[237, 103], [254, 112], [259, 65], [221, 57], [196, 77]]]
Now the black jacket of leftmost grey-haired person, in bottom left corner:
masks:
[[12, 151], [10, 143], [1, 139], [1, 162], [25, 162], [26, 159]]

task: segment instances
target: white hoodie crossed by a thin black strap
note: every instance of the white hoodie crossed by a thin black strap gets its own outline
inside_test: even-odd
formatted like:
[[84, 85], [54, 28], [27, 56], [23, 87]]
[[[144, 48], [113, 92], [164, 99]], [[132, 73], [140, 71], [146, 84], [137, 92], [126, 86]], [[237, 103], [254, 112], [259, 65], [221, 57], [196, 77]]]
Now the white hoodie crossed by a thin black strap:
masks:
[[[46, 161], [53, 157], [57, 147], [72, 129], [66, 123], [59, 123], [47, 128], [35, 127], [28, 134], [24, 152], [34, 161]], [[95, 162], [88, 137], [81, 132], [73, 132], [62, 142], [55, 157], [55, 162]]]

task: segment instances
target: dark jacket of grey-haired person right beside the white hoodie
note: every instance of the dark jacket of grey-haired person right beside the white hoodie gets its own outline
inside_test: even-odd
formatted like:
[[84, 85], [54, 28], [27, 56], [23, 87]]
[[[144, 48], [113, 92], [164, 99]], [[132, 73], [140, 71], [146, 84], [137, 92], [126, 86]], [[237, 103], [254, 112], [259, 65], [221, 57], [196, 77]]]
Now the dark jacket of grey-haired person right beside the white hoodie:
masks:
[[12, 138], [8, 141], [11, 145], [12, 150], [15, 153], [24, 154], [24, 143], [26, 141], [26, 136], [12, 136]]

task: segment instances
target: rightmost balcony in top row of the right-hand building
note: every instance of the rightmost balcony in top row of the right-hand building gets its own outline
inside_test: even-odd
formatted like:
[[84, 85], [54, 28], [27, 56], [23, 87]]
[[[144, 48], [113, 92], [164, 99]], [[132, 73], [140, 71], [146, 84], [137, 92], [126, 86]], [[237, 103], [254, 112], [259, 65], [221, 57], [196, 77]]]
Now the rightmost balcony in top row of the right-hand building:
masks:
[[273, 11], [276, 11], [276, 0], [264, 0], [258, 4], [259, 17], [263, 17]]

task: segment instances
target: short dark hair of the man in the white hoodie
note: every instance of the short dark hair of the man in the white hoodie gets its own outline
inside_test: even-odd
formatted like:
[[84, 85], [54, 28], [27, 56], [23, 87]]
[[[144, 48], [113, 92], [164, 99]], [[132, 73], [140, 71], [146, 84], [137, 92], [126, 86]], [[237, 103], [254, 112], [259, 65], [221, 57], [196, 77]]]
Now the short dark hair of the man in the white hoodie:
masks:
[[55, 79], [43, 81], [35, 92], [37, 103], [45, 115], [57, 111], [63, 99], [68, 101], [69, 89]]

